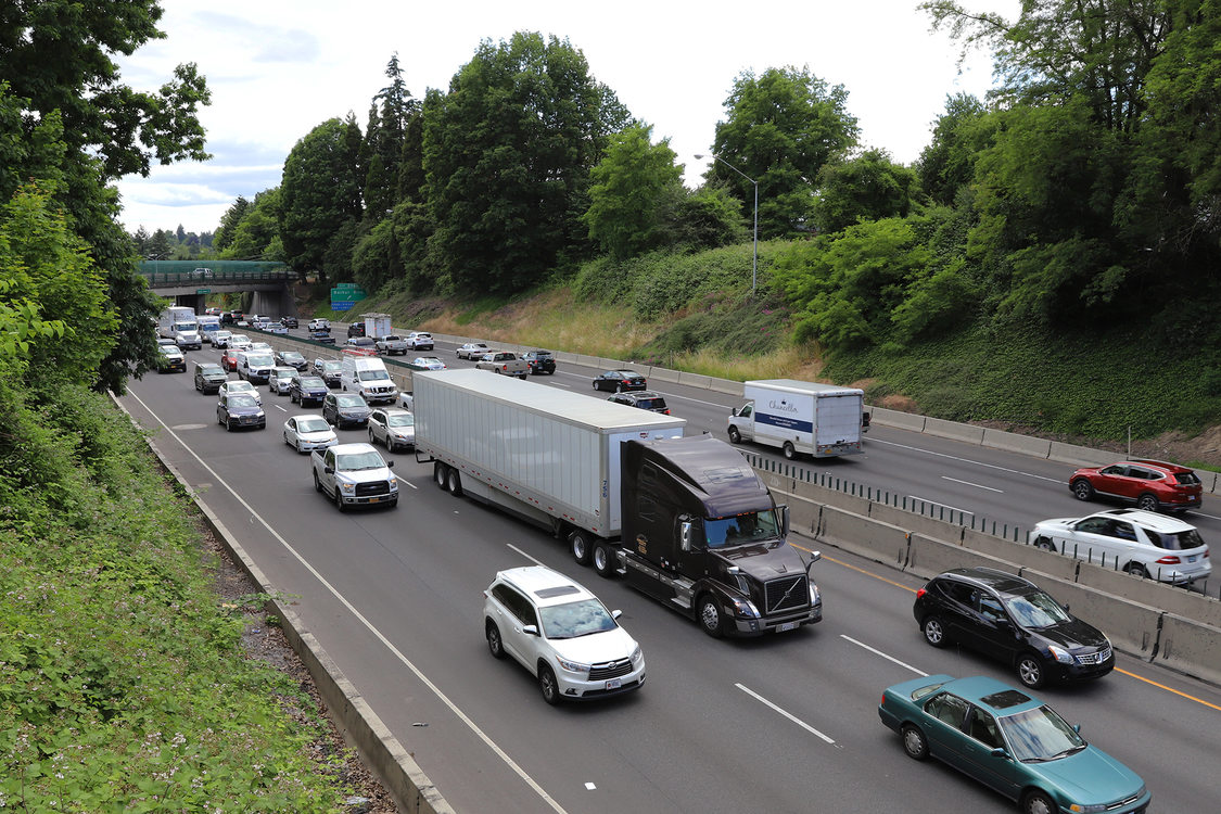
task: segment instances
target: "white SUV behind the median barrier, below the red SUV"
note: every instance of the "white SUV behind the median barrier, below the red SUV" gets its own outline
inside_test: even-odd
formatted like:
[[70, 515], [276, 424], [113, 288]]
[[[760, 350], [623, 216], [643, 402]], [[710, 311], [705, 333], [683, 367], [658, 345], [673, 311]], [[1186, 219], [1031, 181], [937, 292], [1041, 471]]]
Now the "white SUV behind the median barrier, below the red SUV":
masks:
[[1029, 543], [1103, 567], [1181, 585], [1212, 574], [1209, 547], [1195, 526], [1140, 509], [1044, 520]]

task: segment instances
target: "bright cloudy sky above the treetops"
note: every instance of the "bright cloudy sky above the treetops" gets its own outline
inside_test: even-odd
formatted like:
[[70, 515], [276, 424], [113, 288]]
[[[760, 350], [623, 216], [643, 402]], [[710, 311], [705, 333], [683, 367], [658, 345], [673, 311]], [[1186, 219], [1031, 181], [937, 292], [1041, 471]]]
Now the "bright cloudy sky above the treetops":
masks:
[[[1018, 0], [965, 0], [1016, 17]], [[915, 0], [683, 2], [574, 0], [164, 0], [166, 39], [120, 61], [125, 83], [154, 90], [195, 62], [212, 104], [205, 164], [155, 166], [118, 183], [123, 225], [212, 232], [238, 195], [280, 184], [284, 159], [315, 126], [349, 111], [364, 129], [396, 51], [408, 89], [447, 89], [480, 40], [516, 31], [556, 35], [632, 116], [670, 140], [689, 187], [700, 183], [724, 101], [742, 71], [810, 70], [849, 92], [866, 146], [910, 164], [928, 144], [947, 94], [982, 95], [990, 56], [957, 66], [958, 46], [932, 32]], [[745, 10], [745, 15], [744, 15]]]

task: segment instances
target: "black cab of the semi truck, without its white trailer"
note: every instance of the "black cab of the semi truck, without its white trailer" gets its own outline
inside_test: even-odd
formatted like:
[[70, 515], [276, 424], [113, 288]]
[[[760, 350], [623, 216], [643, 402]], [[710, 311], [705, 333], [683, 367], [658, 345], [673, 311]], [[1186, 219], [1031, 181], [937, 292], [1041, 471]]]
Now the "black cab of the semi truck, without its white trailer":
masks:
[[822, 597], [785, 542], [788, 506], [712, 436], [621, 449], [620, 570], [628, 583], [712, 636], [757, 636], [822, 620]]

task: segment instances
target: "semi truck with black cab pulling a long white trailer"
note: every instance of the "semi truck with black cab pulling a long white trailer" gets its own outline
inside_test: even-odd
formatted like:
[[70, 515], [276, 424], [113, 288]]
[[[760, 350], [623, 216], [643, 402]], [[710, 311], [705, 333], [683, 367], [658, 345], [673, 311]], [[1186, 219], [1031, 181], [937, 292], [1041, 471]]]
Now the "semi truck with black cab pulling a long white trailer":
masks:
[[822, 620], [788, 506], [686, 421], [476, 370], [416, 372], [415, 456], [453, 495], [567, 542], [573, 558], [698, 621], [755, 636]]

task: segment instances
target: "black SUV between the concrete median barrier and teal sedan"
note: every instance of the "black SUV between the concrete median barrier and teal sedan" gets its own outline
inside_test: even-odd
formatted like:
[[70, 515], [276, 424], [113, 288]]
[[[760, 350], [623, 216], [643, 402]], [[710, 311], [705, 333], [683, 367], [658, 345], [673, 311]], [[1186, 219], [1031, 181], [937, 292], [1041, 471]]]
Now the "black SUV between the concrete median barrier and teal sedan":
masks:
[[1099, 679], [1111, 642], [1029, 580], [995, 569], [952, 569], [916, 592], [912, 615], [933, 647], [958, 642], [1011, 664], [1032, 690], [1050, 680]]

